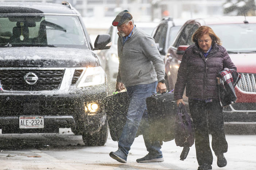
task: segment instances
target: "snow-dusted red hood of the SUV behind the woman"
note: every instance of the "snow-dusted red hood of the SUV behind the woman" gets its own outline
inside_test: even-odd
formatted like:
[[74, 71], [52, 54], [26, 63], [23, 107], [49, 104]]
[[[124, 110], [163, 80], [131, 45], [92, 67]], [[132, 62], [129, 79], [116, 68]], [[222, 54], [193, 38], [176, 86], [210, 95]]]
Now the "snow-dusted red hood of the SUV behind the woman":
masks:
[[229, 53], [229, 56], [239, 73], [256, 73], [256, 53]]

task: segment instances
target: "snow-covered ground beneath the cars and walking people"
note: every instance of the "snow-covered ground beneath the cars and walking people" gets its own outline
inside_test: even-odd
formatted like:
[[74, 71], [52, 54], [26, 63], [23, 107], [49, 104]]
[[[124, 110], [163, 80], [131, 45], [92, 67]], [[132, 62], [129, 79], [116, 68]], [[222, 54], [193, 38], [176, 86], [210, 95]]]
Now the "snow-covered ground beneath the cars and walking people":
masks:
[[[256, 170], [256, 135], [227, 134], [226, 139], [228, 165], [218, 167], [214, 156], [213, 170]], [[81, 135], [74, 135], [70, 129], [61, 129], [58, 134], [0, 134], [0, 142], [0, 170], [197, 170], [198, 167], [195, 146], [181, 161], [182, 147], [176, 146], [174, 140], [163, 143], [164, 162], [137, 163], [137, 158], [147, 154], [142, 135], [135, 138], [127, 163], [109, 157], [118, 145], [110, 135], [104, 146], [93, 147], [85, 146]]]

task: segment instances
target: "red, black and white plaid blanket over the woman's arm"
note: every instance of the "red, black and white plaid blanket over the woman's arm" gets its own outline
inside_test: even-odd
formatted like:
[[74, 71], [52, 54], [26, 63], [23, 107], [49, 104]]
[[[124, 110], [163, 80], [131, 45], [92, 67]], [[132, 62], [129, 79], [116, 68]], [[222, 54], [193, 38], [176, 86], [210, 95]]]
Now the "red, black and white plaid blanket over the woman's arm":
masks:
[[220, 77], [218, 89], [221, 106], [226, 107], [235, 103], [237, 97], [234, 88], [240, 80], [241, 75], [234, 69], [224, 68], [224, 70], [219, 72], [218, 77]]

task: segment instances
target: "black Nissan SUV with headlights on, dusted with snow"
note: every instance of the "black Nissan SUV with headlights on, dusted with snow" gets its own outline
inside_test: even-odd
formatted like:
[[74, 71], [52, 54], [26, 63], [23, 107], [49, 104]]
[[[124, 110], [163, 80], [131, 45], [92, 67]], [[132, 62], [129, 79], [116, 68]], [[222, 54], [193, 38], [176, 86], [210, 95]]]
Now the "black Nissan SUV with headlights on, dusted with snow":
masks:
[[69, 3], [1, 3], [0, 128], [2, 133], [58, 133], [71, 128], [86, 145], [104, 145], [106, 76], [94, 43]]

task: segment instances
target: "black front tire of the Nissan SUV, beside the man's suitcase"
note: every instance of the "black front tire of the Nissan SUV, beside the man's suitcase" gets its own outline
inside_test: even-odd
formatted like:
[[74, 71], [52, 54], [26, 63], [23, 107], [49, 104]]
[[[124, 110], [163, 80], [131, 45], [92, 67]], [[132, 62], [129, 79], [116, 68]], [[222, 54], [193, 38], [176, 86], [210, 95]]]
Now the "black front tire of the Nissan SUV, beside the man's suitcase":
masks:
[[102, 126], [99, 132], [90, 135], [89, 133], [82, 134], [83, 141], [86, 146], [103, 146], [108, 139], [108, 121]]

